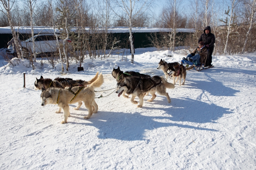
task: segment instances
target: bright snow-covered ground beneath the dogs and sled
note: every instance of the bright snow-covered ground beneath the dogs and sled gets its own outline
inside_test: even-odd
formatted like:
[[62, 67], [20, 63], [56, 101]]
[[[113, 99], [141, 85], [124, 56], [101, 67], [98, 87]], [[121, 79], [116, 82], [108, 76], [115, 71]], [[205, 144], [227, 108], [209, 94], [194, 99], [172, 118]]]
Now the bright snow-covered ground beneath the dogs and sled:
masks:
[[[167, 89], [137, 108], [113, 90], [96, 93], [99, 111], [88, 120], [84, 105], [61, 124], [57, 105], [41, 106], [34, 81], [70, 77], [90, 80], [102, 72], [96, 90], [116, 87], [113, 67], [123, 71], [163, 75], [160, 59], [179, 62], [184, 55], [154, 48], [135, 49], [135, 62], [85, 59], [84, 72], [61, 72], [27, 60], [0, 68], [0, 169], [256, 169], [256, 53], [213, 56], [214, 68], [187, 71], [185, 85]], [[172, 55], [168, 57], [167, 55]], [[6, 65], [4, 60], [0, 61]], [[23, 72], [26, 88], [23, 88]], [[169, 82], [172, 80], [168, 79]], [[138, 100], [138, 98], [135, 98]]]

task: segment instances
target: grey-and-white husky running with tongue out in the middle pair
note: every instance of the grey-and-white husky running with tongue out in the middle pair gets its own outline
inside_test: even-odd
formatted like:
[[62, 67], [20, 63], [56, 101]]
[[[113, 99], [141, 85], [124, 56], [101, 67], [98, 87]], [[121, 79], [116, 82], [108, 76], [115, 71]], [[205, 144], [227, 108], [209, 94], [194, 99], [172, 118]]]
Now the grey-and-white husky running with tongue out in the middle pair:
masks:
[[134, 98], [138, 96], [139, 105], [138, 108], [141, 108], [143, 105], [143, 97], [146, 92], [149, 92], [152, 95], [149, 102], [153, 101], [156, 98], [155, 92], [162, 96], [166, 96], [167, 101], [170, 103], [171, 99], [166, 93], [166, 88], [173, 89], [174, 84], [168, 83], [165, 78], [159, 76], [153, 76], [151, 78], [142, 78], [142, 77], [124, 77], [123, 79], [118, 80], [117, 90], [118, 96], [123, 92], [126, 92], [131, 96], [131, 103], [138, 104], [137, 101], [134, 101]]

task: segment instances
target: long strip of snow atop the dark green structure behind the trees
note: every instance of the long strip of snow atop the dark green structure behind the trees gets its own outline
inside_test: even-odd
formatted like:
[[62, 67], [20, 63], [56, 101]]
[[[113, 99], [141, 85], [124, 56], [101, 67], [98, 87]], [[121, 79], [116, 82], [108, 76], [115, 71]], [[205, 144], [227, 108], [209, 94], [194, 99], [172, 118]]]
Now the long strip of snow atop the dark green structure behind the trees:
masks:
[[[31, 34], [31, 27], [14, 27], [15, 31], [19, 31], [21, 34]], [[86, 31], [90, 31], [90, 27], [85, 28]], [[105, 28], [98, 28], [99, 31], [104, 31]], [[53, 27], [34, 27], [34, 34], [46, 34], [51, 33], [53, 34], [54, 31], [59, 33], [59, 30], [56, 28], [54, 30]], [[77, 32], [77, 28], [71, 28], [72, 32]], [[171, 32], [171, 28], [151, 28], [151, 27], [133, 27], [132, 32]], [[128, 33], [128, 27], [109, 27], [108, 33]], [[195, 32], [194, 28], [177, 28], [177, 32]], [[0, 34], [11, 34], [10, 27], [0, 27]]]

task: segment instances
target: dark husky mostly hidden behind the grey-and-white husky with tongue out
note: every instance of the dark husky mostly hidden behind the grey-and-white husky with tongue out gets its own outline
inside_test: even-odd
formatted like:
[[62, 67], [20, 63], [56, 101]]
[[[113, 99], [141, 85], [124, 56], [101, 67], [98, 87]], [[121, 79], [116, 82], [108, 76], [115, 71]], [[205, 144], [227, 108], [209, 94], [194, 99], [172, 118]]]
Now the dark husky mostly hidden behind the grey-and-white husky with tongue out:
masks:
[[[140, 74], [140, 73], [135, 72], [135, 71], [123, 72], [123, 71], [120, 70], [119, 66], [118, 66], [117, 69], [115, 69], [115, 67], [114, 67], [114, 69], [112, 71], [112, 76], [116, 79], [116, 81], [118, 81], [120, 79], [123, 79], [124, 77], [131, 77], [131, 76], [133, 76], [133, 77], [145, 77], [145, 78], [150, 78], [151, 77], [150, 75]], [[122, 96], [125, 97], [125, 98], [129, 98], [128, 96], [125, 95], [125, 93], [126, 93], [126, 91], [124, 91], [124, 93], [122, 93]]]

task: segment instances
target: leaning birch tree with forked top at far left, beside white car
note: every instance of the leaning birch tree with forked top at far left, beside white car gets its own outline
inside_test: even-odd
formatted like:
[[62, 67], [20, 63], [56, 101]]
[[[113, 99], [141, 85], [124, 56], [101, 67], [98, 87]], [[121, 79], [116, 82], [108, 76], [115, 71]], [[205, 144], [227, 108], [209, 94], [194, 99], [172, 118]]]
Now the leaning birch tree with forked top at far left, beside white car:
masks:
[[[10, 25], [10, 28], [11, 28], [12, 36], [14, 38], [14, 44], [15, 44], [15, 47], [16, 47], [18, 58], [23, 59], [23, 56], [20, 53], [20, 51], [22, 51], [22, 48], [20, 47], [20, 45], [18, 43], [18, 37], [17, 37], [15, 29], [14, 29], [13, 19], [12, 19], [12, 15], [11, 15], [11, 9], [14, 5], [15, 0], [13, 0], [13, 1], [11, 1], [11, 0], [0, 0], [0, 1], [2, 2], [2, 5], [3, 5], [3, 7], [6, 11], [6, 13], [5, 13], [4, 10], [2, 9], [2, 6], [1, 6], [1, 12], [3, 12], [6, 15], [6, 17], [8, 18], [8, 21], [9, 21], [9, 25]], [[20, 51], [18, 50], [18, 47], [19, 47]]]

